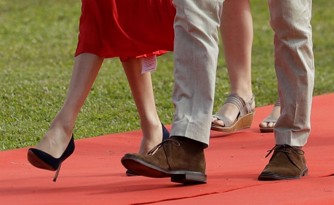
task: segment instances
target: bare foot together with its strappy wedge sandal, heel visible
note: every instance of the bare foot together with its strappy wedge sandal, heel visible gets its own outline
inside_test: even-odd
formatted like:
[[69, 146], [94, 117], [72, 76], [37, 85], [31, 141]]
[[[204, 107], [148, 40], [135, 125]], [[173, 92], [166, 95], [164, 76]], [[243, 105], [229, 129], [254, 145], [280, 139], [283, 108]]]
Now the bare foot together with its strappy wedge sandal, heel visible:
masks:
[[251, 127], [255, 113], [254, 95], [245, 103], [244, 99], [230, 94], [223, 107], [212, 116], [211, 129], [222, 132], [232, 132]]

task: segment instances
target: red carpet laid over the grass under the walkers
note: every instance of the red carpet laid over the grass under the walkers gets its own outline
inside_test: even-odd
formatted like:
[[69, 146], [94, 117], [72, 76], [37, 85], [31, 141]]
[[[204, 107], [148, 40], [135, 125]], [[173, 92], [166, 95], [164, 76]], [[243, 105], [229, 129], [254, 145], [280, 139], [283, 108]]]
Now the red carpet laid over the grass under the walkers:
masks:
[[[267, 164], [273, 133], [258, 124], [271, 106], [256, 109], [252, 127], [235, 133], [212, 131], [205, 150], [208, 183], [186, 186], [169, 179], [126, 177], [120, 158], [138, 151], [141, 131], [76, 140], [76, 150], [54, 172], [28, 164], [28, 148], [0, 152], [1, 205], [333, 205], [334, 94], [313, 98], [312, 131], [305, 151], [309, 176], [258, 181]], [[170, 126], [167, 126], [169, 129]]]

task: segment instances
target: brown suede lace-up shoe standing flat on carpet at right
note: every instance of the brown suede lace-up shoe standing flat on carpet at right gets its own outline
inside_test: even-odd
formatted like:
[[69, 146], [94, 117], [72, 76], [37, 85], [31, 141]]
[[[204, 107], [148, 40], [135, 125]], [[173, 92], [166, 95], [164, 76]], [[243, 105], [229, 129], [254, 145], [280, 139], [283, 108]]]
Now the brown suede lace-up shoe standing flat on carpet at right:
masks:
[[302, 147], [276, 145], [267, 156], [273, 151], [273, 156], [258, 176], [258, 180], [300, 179], [308, 176]]

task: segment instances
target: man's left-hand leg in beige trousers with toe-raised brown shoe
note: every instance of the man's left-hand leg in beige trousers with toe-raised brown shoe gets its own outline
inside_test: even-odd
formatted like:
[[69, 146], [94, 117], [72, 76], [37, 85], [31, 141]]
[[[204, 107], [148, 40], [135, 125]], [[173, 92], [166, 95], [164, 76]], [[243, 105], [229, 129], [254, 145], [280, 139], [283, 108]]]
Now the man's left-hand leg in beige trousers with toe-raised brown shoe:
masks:
[[121, 162], [136, 175], [206, 183], [204, 148], [209, 145], [223, 0], [173, 0], [173, 4], [175, 116], [171, 137], [158, 151], [153, 149], [146, 156], [126, 154]]

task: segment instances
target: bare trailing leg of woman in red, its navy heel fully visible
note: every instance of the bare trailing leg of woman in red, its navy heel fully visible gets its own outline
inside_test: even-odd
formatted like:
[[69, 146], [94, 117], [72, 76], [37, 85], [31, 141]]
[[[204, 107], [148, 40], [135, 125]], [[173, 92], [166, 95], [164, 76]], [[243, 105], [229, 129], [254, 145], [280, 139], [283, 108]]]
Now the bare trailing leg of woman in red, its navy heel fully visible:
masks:
[[79, 111], [87, 98], [103, 60], [104, 57], [91, 53], [82, 53], [75, 57], [66, 100], [36, 149], [56, 158], [63, 154], [71, 139]]

